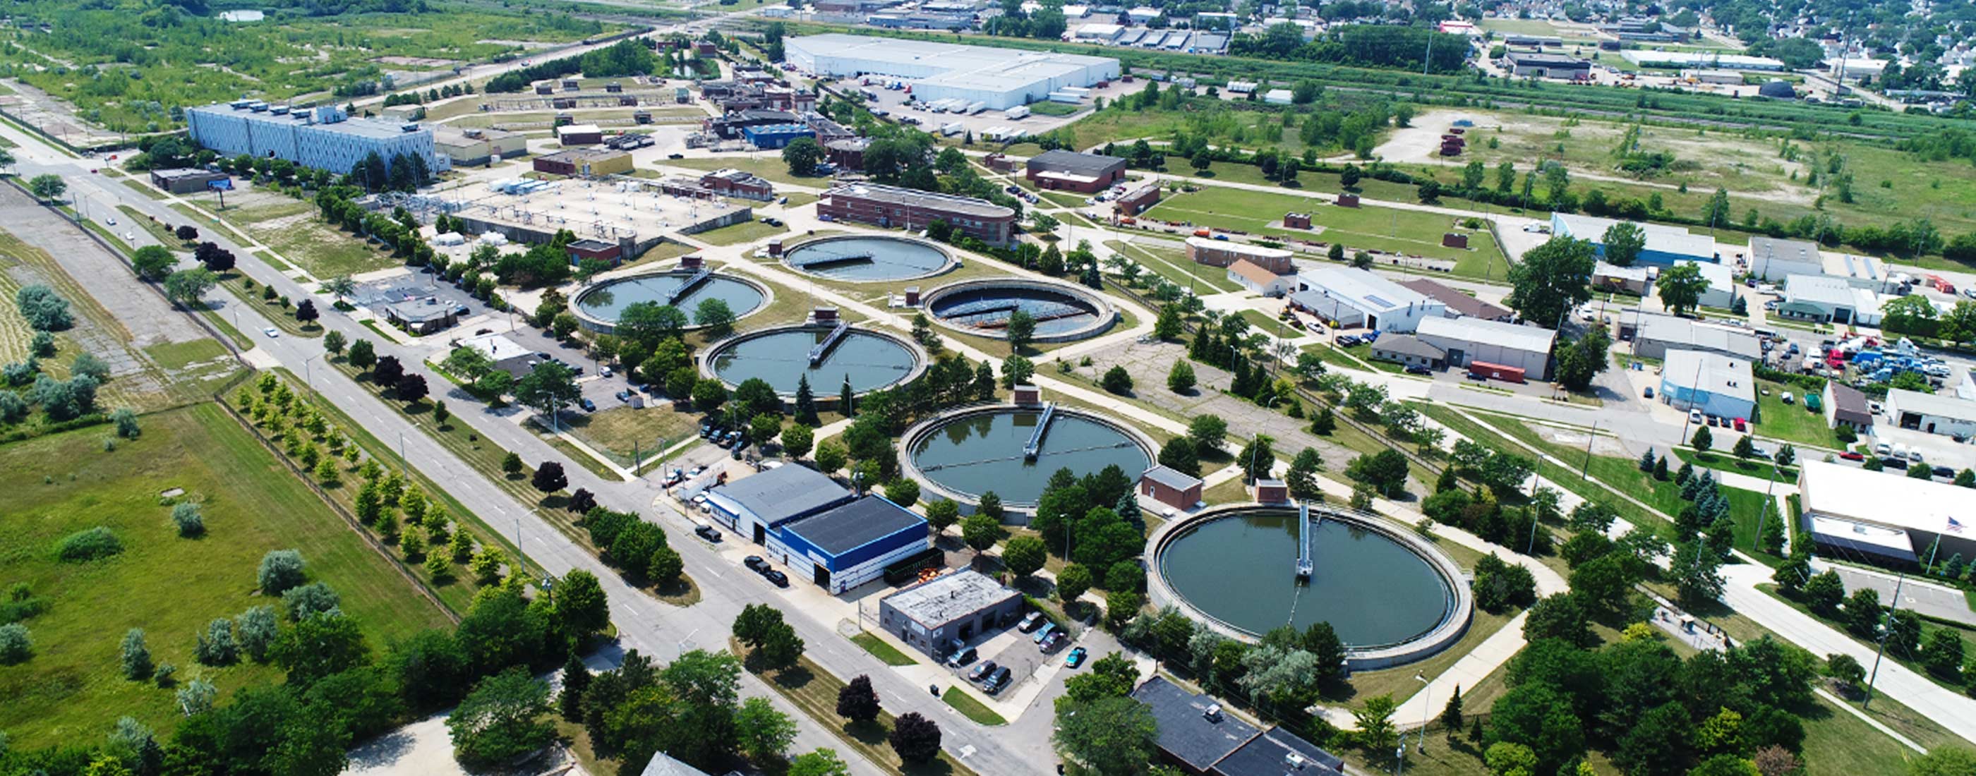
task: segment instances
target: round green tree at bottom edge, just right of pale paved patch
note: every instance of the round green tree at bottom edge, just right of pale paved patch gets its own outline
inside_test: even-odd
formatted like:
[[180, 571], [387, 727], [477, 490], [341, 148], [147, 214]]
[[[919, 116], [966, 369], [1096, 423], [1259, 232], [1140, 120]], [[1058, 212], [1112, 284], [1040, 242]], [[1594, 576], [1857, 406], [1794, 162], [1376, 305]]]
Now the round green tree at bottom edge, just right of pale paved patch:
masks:
[[492, 766], [539, 750], [555, 740], [549, 685], [516, 665], [478, 685], [447, 717], [453, 754], [470, 766]]

